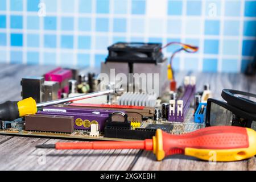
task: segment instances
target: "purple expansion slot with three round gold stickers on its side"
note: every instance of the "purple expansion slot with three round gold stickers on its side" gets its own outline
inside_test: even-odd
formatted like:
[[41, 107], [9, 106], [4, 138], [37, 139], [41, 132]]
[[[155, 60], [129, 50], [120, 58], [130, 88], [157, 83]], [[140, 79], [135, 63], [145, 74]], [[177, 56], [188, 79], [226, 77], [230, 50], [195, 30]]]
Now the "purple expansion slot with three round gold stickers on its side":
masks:
[[92, 113], [61, 113], [60, 111], [48, 112], [48, 111], [38, 111], [36, 114], [46, 114], [46, 115], [65, 115], [74, 117], [74, 129], [79, 130], [89, 130], [92, 123], [98, 124], [100, 126], [100, 131], [104, 130], [105, 122], [109, 118], [109, 114], [92, 114]]

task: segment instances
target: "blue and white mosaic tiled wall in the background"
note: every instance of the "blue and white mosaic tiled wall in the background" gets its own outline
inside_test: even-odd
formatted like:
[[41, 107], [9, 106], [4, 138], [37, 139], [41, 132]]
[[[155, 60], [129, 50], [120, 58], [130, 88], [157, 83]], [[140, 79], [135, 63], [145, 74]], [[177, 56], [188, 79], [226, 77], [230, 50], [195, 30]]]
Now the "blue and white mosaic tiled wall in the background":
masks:
[[200, 51], [175, 69], [241, 72], [256, 52], [256, 1], [0, 0], [0, 63], [99, 67], [117, 41], [191, 43]]

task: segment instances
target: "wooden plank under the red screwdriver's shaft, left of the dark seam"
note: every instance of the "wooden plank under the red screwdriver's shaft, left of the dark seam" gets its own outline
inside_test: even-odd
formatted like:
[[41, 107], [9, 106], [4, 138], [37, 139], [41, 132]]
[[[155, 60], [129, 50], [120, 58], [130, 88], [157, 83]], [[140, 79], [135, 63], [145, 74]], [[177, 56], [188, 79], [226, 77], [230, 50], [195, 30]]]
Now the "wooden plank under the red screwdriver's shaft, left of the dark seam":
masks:
[[[35, 149], [36, 140], [26, 152], [26, 157], [14, 159], [5, 165], [14, 170], [126, 170], [138, 150], [53, 150]], [[50, 139], [46, 143], [70, 142]], [[45, 163], [44, 163], [45, 162]], [[0, 161], [1, 164], [1, 161]], [[0, 168], [1, 169], [1, 168]]]

